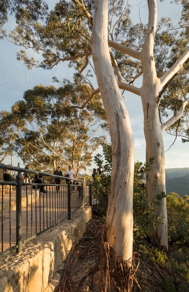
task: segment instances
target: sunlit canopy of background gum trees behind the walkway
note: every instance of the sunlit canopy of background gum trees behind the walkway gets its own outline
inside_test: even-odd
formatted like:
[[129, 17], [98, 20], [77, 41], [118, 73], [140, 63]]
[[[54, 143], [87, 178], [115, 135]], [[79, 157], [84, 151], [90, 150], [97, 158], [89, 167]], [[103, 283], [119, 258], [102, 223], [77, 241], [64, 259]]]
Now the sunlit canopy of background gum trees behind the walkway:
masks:
[[[64, 81], [64, 86], [38, 85], [25, 91], [12, 107], [12, 115], [23, 124], [15, 151], [34, 169], [52, 171], [71, 163], [76, 173], [90, 166], [92, 154], [104, 140], [106, 129], [100, 95], [81, 107], [89, 86]], [[18, 122], [19, 124], [19, 122]]]

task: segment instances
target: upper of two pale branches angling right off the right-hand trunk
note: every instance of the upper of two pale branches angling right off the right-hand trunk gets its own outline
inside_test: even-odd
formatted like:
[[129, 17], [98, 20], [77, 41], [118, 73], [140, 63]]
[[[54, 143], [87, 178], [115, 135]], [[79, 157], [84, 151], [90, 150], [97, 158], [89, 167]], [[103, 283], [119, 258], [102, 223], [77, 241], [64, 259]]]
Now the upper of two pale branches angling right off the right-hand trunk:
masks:
[[189, 47], [181, 55], [181, 57], [174, 63], [174, 65], [160, 78], [161, 87], [163, 87], [181, 68], [184, 62], [189, 58]]

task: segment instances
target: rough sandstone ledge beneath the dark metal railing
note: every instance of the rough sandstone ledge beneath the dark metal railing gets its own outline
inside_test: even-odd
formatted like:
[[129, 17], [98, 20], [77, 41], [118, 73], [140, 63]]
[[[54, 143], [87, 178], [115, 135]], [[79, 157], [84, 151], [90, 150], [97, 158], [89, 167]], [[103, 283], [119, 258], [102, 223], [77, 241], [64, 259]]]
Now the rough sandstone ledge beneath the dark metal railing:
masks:
[[74, 241], [82, 237], [91, 216], [90, 206], [84, 206], [70, 221], [65, 220], [24, 244], [22, 253], [10, 253], [2, 258], [0, 291], [53, 291], [59, 281], [57, 272]]

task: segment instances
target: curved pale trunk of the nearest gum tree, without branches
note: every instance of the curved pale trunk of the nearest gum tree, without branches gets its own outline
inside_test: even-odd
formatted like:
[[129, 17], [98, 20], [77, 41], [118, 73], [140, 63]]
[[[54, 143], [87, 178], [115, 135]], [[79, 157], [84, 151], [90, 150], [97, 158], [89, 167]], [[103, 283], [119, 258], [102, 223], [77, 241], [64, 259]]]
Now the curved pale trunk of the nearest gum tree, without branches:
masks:
[[92, 60], [112, 142], [112, 174], [106, 216], [107, 242], [124, 260], [132, 257], [134, 141], [110, 59], [107, 39], [108, 0], [95, 1]]

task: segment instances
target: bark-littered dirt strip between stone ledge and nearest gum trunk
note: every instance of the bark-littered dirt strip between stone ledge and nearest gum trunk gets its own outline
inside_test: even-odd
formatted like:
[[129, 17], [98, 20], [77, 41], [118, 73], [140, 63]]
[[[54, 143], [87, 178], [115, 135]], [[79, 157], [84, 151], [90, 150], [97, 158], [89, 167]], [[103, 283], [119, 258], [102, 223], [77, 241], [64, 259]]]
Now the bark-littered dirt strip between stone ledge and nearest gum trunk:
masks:
[[[65, 269], [56, 292], [100, 291], [99, 271], [95, 265], [100, 251], [102, 227], [103, 224], [99, 224], [99, 218], [93, 215], [86, 226], [83, 237], [75, 243], [67, 256]], [[91, 270], [94, 271], [91, 272]]]

